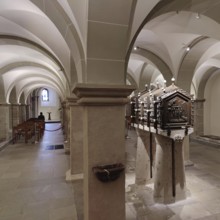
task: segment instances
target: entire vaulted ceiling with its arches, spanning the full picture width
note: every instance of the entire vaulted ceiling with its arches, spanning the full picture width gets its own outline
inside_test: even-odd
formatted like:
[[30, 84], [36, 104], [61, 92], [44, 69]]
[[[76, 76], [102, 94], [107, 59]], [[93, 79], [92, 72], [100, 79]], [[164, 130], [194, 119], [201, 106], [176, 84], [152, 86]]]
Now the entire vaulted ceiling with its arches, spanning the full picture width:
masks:
[[41, 87], [64, 100], [89, 68], [139, 90], [174, 76], [202, 98], [220, 67], [219, 9], [218, 0], [1, 0], [0, 103]]

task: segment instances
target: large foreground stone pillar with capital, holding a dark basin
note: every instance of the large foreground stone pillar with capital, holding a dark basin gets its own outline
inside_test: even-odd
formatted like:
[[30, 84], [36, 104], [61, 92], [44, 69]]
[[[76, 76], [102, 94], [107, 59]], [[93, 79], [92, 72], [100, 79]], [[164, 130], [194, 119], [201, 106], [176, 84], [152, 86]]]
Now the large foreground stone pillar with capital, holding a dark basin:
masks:
[[[73, 92], [82, 106], [84, 220], [125, 220], [125, 171], [100, 181], [94, 167], [125, 165], [125, 104], [134, 88], [78, 84]], [[111, 172], [103, 173], [111, 179]]]

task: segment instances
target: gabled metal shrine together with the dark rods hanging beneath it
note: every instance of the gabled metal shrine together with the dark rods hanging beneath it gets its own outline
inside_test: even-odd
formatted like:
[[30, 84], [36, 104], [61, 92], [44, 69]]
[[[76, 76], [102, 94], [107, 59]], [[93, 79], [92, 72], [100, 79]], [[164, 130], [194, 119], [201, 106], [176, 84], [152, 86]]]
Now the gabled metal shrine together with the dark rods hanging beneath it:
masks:
[[[152, 134], [171, 139], [172, 163], [172, 195], [176, 196], [176, 142], [182, 142], [184, 137], [193, 132], [192, 97], [174, 84], [159, 88], [147, 88], [138, 95], [131, 97], [131, 122], [137, 129], [150, 132], [150, 177], [152, 178], [153, 152]], [[152, 87], [152, 85], [151, 85]], [[159, 136], [158, 136], [159, 135]], [[161, 138], [159, 138], [161, 139]], [[164, 139], [164, 140], [168, 140]], [[163, 145], [163, 141], [161, 142]], [[179, 146], [179, 145], [178, 145]], [[157, 149], [156, 149], [157, 152]], [[181, 152], [182, 153], [182, 152]], [[178, 158], [179, 159], [179, 158]], [[164, 158], [162, 160], [167, 160]], [[183, 162], [184, 163], [184, 162]], [[183, 169], [184, 170], [184, 169]], [[185, 177], [185, 173], [183, 173]], [[184, 179], [184, 178], [183, 178]], [[179, 181], [178, 181], [179, 182]]]

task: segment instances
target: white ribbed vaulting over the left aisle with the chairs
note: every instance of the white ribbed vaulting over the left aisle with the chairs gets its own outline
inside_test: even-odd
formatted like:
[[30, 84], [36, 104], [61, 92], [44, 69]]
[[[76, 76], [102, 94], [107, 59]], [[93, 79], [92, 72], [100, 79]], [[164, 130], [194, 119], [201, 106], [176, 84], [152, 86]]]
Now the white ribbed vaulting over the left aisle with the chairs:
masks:
[[[48, 16], [28, 0], [0, 1], [0, 74], [5, 100], [38, 84], [64, 98], [70, 80], [70, 49]], [[19, 67], [19, 68], [18, 68]]]

